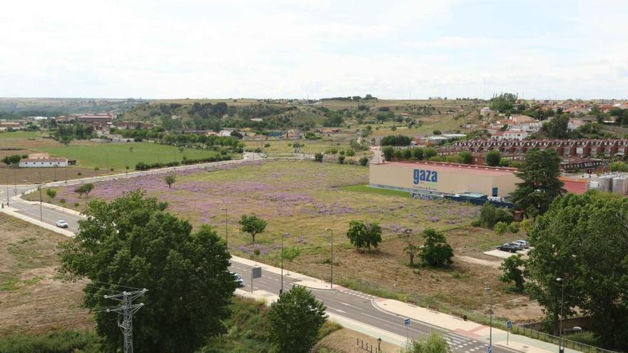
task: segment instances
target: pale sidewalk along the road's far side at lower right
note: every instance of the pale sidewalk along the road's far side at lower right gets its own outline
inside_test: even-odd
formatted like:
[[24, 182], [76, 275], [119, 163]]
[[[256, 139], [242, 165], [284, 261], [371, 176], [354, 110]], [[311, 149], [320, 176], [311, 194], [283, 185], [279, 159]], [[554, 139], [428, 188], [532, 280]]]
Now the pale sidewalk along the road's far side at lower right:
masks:
[[[433, 311], [424, 307], [417, 307], [416, 305], [407, 304], [398, 300], [391, 300], [380, 298], [373, 301], [373, 305], [385, 312], [396, 314], [401, 317], [408, 317], [412, 320], [425, 322], [435, 327], [442, 329], [448, 329], [452, 332], [460, 334], [472, 339], [482, 340], [489, 342], [490, 327], [484, 324], [478, 324], [477, 322], [464, 321], [459, 317], [445, 314], [442, 312]], [[516, 352], [525, 353], [555, 353], [558, 352], [558, 346], [547, 342], [542, 342], [538, 339], [532, 339], [530, 337], [521, 336], [519, 334], [508, 334], [502, 329], [492, 329], [492, 344], [493, 346], [500, 346], [508, 349], [512, 349]], [[577, 353], [573, 349], [564, 349], [568, 353]]]

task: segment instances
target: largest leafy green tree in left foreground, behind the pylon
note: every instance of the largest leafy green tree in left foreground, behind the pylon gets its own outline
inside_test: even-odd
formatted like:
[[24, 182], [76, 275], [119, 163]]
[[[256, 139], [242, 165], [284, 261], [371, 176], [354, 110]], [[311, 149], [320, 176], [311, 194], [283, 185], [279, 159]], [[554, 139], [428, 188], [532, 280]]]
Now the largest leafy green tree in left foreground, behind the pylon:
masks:
[[[133, 317], [138, 353], [196, 352], [208, 337], [226, 332], [223, 320], [236, 290], [230, 255], [216, 231], [203, 225], [192, 232], [166, 208], [141, 190], [109, 203], [93, 200], [76, 237], [59, 245], [60, 272], [91, 280], [83, 289], [85, 307], [118, 305], [104, 295], [148, 289]], [[121, 346], [116, 316], [94, 313], [106, 352]]]

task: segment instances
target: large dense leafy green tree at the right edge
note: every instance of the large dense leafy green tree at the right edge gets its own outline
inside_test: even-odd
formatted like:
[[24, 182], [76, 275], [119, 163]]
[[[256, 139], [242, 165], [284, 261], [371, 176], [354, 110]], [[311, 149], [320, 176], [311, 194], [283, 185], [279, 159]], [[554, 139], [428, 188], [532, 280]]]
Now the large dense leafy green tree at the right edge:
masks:
[[[628, 199], [589, 191], [559, 196], [538, 217], [528, 238], [526, 292], [557, 322], [564, 285], [564, 316], [592, 317], [607, 348], [628, 349]], [[557, 282], [556, 278], [564, 279]]]

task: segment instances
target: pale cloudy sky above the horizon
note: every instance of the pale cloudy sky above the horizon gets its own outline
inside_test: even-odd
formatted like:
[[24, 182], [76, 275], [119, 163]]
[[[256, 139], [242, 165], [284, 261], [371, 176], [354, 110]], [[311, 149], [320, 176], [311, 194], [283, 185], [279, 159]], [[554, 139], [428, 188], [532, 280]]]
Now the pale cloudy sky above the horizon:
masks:
[[0, 96], [628, 98], [628, 1], [6, 1]]

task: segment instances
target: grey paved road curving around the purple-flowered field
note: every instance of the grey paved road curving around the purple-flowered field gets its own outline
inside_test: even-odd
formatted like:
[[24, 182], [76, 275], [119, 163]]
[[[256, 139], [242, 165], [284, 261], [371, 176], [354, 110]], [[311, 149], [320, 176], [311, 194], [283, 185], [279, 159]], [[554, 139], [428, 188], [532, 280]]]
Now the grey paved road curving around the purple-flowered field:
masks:
[[[233, 164], [233, 163], [243, 163], [245, 160], [235, 160], [228, 161], [228, 163], [223, 164]], [[182, 169], [193, 169], [198, 168], [203, 170], [203, 168], [209, 168], [216, 166], [217, 163], [207, 163], [206, 165], [188, 165], [183, 167], [177, 167], [176, 170]], [[103, 180], [115, 180], [118, 178], [134, 178], [141, 175], [153, 175], [159, 173], [168, 173], [171, 172], [171, 168], [161, 169], [161, 170], [147, 170], [145, 172], [136, 172], [136, 173], [128, 173], [128, 175], [106, 175], [102, 177], [96, 178], [87, 178], [84, 180], [69, 180], [67, 183], [64, 182], [56, 182], [56, 183], [48, 183], [44, 185], [44, 187], [49, 186], [61, 186], [61, 185], [77, 185], [81, 183], [87, 182], [96, 182]], [[19, 195], [28, 190], [33, 190], [33, 185], [17, 185], [14, 187], [13, 185], [9, 186], [9, 199], [11, 208], [17, 208], [19, 213], [27, 215], [31, 218], [39, 220], [40, 218], [40, 205], [39, 204], [31, 204], [26, 203], [24, 200], [19, 198], [12, 198], [15, 195]], [[6, 203], [6, 185], [0, 186], [0, 190], [4, 190], [0, 193], [0, 201]], [[81, 218], [79, 215], [74, 215], [72, 213], [64, 212], [63, 210], [59, 210], [57, 208], [50, 208], [46, 205], [43, 205], [41, 208], [41, 212], [43, 215], [44, 222], [47, 222], [51, 225], [57, 220], [66, 220], [70, 227], [69, 230], [73, 232], [78, 231], [78, 223], [77, 221]], [[231, 265], [231, 269], [234, 272], [238, 272], [245, 281], [244, 290], [250, 290], [250, 267], [247, 265], [240, 264], [238, 262], [233, 262]], [[270, 272], [265, 272], [261, 279], [255, 280], [254, 282], [254, 290], [265, 290], [268, 292], [272, 292], [275, 294], [279, 293], [280, 290], [280, 275], [275, 275]], [[288, 290], [294, 281], [290, 279], [290, 277], [284, 277], [284, 288]], [[349, 319], [353, 319], [357, 322], [361, 322], [363, 324], [368, 324], [372, 327], [376, 327], [378, 329], [383, 329], [388, 332], [392, 332], [394, 334], [399, 334], [400, 336], [405, 337], [406, 328], [403, 325], [403, 317], [397, 316], [395, 314], [390, 314], [388, 312], [383, 312], [373, 305], [373, 300], [377, 299], [371, 295], [366, 295], [364, 293], [355, 292], [355, 291], [347, 291], [347, 292], [339, 292], [339, 291], [330, 291], [330, 290], [313, 290], [313, 293], [318, 297], [319, 300], [322, 300], [325, 305], [328, 307], [329, 312], [334, 312], [343, 317], [348, 317]], [[454, 352], [460, 353], [480, 353], [487, 352], [487, 342], [480, 342], [475, 339], [470, 339], [468, 337], [461, 336], [460, 334], [455, 334], [454, 332], [448, 332], [443, 329], [439, 329], [437, 327], [432, 327], [429, 324], [422, 322], [412, 322], [410, 324], [410, 328], [408, 329], [408, 334], [411, 338], [416, 338], [425, 334], [429, 334], [430, 332], [440, 332], [444, 335], [447, 342], [450, 343], [450, 347]], [[501, 347], [493, 347], [492, 349], [495, 353], [507, 353], [512, 352], [508, 349], [504, 349]]]

